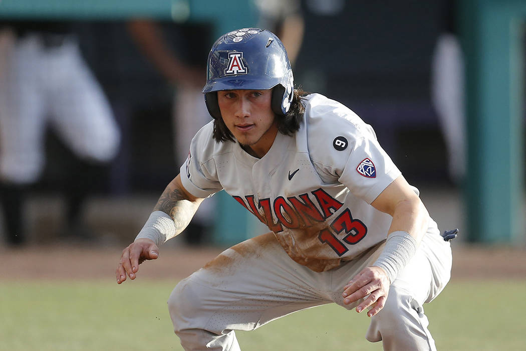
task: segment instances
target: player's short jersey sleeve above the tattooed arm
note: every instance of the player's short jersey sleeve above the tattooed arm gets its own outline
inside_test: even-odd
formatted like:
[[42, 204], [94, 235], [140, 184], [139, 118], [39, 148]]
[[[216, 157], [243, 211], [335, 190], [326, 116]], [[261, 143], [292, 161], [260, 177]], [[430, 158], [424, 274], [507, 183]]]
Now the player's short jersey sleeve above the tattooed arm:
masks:
[[222, 190], [214, 161], [215, 142], [212, 122], [194, 136], [185, 163], [180, 168], [181, 183], [192, 195], [206, 198]]

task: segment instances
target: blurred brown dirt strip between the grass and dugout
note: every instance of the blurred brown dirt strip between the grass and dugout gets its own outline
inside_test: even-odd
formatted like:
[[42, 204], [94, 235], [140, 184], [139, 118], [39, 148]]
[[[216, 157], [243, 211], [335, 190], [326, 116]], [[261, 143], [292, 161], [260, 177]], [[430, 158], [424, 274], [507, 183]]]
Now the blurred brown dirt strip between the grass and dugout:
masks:
[[[221, 252], [221, 248], [161, 248], [155, 262], [140, 266], [138, 278], [181, 279]], [[115, 280], [115, 267], [122, 247], [41, 245], [21, 249], [0, 248], [0, 280], [108, 279]], [[452, 279], [526, 278], [526, 249], [453, 245]]]

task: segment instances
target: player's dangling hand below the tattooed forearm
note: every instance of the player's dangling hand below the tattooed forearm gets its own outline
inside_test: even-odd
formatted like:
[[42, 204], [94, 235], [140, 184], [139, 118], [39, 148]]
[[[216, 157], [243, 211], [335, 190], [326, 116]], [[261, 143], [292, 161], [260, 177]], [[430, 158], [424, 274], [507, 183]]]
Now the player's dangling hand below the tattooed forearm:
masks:
[[159, 248], [153, 240], [135, 240], [123, 250], [123, 254], [120, 256], [120, 262], [115, 272], [117, 284], [124, 282], [126, 275], [132, 280], [135, 279], [139, 265], [147, 259], [156, 259], [157, 257], [159, 257]]

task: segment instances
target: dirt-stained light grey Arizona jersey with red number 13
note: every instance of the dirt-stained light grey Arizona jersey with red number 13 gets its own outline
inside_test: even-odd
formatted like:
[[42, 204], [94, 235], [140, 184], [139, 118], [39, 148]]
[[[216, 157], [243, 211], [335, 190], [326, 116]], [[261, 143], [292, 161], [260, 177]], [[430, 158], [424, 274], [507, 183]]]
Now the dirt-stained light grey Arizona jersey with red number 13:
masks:
[[349, 108], [320, 94], [304, 104], [299, 131], [278, 133], [260, 159], [236, 142], [215, 142], [208, 123], [191, 142], [180, 176], [197, 197], [225, 189], [292, 259], [323, 272], [386, 238], [392, 217], [370, 204], [400, 171]]

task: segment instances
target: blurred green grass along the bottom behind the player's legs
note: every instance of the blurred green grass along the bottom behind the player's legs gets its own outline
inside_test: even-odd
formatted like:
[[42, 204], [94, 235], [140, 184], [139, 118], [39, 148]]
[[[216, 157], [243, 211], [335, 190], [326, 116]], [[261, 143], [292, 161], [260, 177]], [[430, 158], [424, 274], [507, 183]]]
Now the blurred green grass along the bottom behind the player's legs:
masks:
[[[182, 350], [166, 299], [175, 282], [0, 281], [0, 350]], [[526, 281], [451, 282], [426, 305], [439, 350], [526, 349]], [[368, 317], [336, 305], [238, 332], [244, 350], [381, 350]]]

